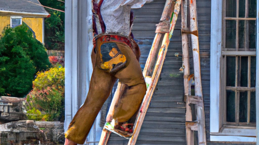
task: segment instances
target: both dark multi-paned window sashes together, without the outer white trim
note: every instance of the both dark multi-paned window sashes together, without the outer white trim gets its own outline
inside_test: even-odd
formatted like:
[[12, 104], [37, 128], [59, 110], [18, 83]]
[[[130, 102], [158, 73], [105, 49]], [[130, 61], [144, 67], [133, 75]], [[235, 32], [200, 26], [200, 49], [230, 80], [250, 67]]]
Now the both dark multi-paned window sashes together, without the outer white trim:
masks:
[[255, 126], [256, 0], [225, 0], [223, 4], [224, 124]]

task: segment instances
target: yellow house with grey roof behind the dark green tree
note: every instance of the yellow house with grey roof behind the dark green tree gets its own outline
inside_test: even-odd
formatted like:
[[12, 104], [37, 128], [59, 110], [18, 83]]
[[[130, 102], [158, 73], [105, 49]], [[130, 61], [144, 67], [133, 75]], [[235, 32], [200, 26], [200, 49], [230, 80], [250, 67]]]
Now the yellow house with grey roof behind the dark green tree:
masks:
[[49, 16], [38, 0], [0, 0], [0, 36], [4, 27], [25, 23], [34, 37], [44, 43], [44, 18]]

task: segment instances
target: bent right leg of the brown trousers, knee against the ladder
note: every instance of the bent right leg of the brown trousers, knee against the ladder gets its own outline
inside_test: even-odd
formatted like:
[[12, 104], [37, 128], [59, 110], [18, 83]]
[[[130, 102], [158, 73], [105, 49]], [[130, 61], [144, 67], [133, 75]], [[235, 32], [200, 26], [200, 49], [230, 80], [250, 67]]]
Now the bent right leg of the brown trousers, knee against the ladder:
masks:
[[128, 46], [120, 46], [119, 44], [118, 46], [126, 59], [130, 58], [130, 61], [125, 68], [115, 74], [115, 77], [127, 87], [114, 109], [113, 119], [118, 122], [126, 122], [139, 109], [147, 88], [140, 64], [133, 51]]

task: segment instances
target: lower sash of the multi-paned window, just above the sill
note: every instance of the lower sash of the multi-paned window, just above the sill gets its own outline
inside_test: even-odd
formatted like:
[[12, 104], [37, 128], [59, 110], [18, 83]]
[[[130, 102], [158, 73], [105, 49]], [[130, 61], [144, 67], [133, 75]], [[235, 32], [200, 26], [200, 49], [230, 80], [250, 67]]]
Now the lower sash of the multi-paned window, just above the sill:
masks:
[[255, 125], [255, 56], [226, 57], [226, 124]]

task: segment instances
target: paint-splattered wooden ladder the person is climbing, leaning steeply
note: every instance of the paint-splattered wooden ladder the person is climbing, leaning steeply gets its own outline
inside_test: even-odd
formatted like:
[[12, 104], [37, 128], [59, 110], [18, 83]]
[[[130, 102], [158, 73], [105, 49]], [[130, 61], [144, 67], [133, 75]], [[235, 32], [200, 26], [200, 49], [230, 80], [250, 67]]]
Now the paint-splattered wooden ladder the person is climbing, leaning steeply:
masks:
[[[164, 59], [166, 57], [170, 38], [175, 27], [178, 13], [180, 11], [180, 4], [181, 0], [167, 0], [160, 19], [160, 23], [157, 24], [156, 35], [147, 58], [145, 68], [143, 70], [144, 77], [151, 77], [151, 82], [147, 88], [146, 95], [144, 96], [144, 99], [138, 111], [138, 115], [134, 123], [133, 135], [129, 139], [128, 145], [135, 145], [136, 140], [138, 138], [140, 128], [145, 118], [155, 87], [159, 80], [159, 76], [162, 70]], [[114, 97], [112, 99], [107, 117], [113, 115], [114, 108], [123, 91], [124, 85], [119, 83]], [[110, 131], [103, 128], [99, 145], [107, 144], [110, 133]]]

